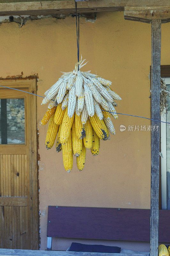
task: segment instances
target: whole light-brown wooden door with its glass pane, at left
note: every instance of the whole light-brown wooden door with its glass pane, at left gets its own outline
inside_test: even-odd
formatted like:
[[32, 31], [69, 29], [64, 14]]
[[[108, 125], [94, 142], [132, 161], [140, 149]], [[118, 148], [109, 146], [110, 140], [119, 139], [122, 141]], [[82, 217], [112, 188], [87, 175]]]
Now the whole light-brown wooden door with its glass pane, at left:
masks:
[[0, 85], [0, 248], [38, 249], [36, 81]]

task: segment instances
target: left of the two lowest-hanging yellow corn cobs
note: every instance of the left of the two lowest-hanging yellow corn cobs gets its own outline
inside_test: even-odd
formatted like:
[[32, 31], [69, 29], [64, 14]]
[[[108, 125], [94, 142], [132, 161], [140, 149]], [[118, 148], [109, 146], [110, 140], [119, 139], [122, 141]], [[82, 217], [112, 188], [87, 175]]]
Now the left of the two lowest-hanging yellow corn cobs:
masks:
[[67, 172], [71, 172], [73, 167], [73, 148], [72, 148], [72, 139], [71, 132], [67, 142], [62, 146], [63, 148], [63, 164]]

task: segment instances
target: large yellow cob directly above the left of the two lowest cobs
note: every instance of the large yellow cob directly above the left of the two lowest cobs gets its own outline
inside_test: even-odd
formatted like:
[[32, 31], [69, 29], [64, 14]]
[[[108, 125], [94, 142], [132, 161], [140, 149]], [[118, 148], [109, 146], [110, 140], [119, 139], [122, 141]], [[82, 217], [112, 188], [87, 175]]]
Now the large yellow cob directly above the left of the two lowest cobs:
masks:
[[67, 115], [67, 110], [68, 110], [68, 107], [65, 109], [65, 113], [63, 116], [63, 122], [61, 125], [61, 131], [60, 131], [60, 141], [62, 144], [65, 144], [69, 138], [71, 126], [73, 124], [74, 115], [75, 115], [75, 113], [74, 113], [72, 117], [69, 117]]

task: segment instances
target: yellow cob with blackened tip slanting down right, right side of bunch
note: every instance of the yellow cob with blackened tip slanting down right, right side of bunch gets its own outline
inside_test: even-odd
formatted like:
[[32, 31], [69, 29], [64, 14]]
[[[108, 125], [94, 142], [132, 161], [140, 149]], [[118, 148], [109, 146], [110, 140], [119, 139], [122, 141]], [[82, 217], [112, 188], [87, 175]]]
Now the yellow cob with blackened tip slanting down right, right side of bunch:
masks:
[[107, 140], [107, 131], [105, 131], [103, 129], [101, 120], [99, 119], [99, 117], [96, 114], [94, 114], [94, 116], [90, 117], [90, 123], [92, 124], [92, 127], [93, 127], [94, 131], [96, 132], [97, 136], [101, 140]]

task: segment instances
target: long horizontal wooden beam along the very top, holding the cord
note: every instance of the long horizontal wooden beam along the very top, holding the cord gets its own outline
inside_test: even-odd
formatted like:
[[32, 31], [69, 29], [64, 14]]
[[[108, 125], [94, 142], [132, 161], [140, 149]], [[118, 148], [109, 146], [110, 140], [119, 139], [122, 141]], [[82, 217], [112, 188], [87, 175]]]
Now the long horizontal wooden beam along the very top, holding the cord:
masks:
[[[75, 13], [75, 3], [72, 0], [37, 1], [4, 3], [1, 0], [0, 15], [32, 15], [32, 14], [56, 14]], [[9, 0], [10, 1], [10, 0]], [[107, 12], [123, 11], [125, 6], [160, 6], [170, 5], [170, 0], [91, 0], [78, 2], [78, 12]]]

